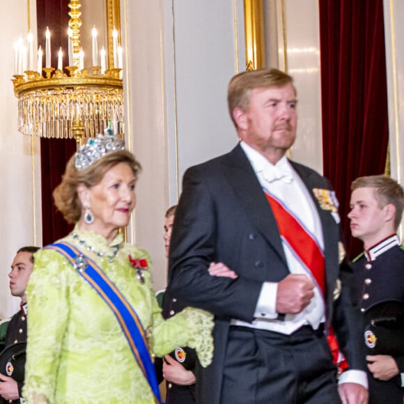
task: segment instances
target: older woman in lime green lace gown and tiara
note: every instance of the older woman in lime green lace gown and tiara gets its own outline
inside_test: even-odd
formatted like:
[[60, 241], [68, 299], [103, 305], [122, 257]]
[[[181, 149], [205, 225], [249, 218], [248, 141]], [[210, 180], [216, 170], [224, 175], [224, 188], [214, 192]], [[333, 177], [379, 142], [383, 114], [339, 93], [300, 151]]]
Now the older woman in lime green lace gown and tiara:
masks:
[[203, 366], [210, 362], [210, 314], [186, 309], [164, 321], [150, 257], [118, 231], [134, 209], [139, 169], [123, 141], [105, 134], [70, 159], [54, 191], [75, 228], [35, 256], [27, 290], [28, 403], [156, 403], [154, 355], [188, 345]]

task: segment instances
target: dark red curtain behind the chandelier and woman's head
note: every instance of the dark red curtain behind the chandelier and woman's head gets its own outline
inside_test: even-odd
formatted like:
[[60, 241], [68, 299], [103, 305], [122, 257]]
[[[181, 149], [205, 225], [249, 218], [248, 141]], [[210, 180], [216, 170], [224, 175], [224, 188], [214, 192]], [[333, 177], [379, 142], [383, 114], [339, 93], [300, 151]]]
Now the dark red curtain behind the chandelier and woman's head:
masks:
[[[45, 50], [45, 31], [49, 26], [52, 35], [52, 67], [55, 68], [59, 47], [68, 49], [68, 11], [70, 10], [68, 3], [68, 0], [36, 1], [38, 46], [41, 45]], [[75, 150], [76, 142], [73, 139], [41, 139], [40, 141], [43, 245], [63, 237], [72, 228], [56, 210], [52, 192], [61, 182], [66, 162]]]

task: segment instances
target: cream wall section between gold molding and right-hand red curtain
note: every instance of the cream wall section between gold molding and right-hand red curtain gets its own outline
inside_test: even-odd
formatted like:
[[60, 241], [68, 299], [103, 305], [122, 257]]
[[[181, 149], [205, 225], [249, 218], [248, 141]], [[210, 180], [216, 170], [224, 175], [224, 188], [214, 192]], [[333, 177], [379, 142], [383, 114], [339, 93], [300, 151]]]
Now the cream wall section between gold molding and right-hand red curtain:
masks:
[[323, 173], [318, 0], [278, 0], [277, 10], [279, 66], [285, 67], [286, 44], [288, 74], [295, 79], [298, 99], [297, 139], [290, 157]]

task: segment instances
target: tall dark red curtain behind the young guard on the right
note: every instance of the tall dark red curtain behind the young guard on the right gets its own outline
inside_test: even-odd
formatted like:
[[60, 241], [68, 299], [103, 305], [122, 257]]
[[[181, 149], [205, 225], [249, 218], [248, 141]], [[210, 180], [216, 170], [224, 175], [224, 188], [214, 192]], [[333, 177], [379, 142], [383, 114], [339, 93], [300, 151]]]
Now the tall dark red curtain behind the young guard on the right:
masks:
[[382, 0], [319, 0], [324, 175], [339, 198], [350, 258], [350, 185], [384, 173], [389, 128]]

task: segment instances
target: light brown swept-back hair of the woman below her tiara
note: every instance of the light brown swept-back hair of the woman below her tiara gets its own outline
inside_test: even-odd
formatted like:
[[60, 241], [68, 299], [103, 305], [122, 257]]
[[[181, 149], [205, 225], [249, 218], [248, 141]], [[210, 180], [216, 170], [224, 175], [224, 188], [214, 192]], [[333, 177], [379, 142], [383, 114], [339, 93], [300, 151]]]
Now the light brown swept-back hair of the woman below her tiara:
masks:
[[134, 155], [127, 150], [107, 153], [83, 170], [77, 170], [75, 167], [75, 155], [70, 158], [62, 181], [53, 192], [56, 208], [60, 210], [66, 222], [77, 223], [81, 217], [81, 202], [77, 194], [77, 187], [80, 184], [84, 184], [88, 188], [97, 185], [107, 171], [120, 163], [130, 166], [134, 177], [137, 179], [141, 165], [134, 158]]

